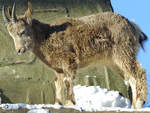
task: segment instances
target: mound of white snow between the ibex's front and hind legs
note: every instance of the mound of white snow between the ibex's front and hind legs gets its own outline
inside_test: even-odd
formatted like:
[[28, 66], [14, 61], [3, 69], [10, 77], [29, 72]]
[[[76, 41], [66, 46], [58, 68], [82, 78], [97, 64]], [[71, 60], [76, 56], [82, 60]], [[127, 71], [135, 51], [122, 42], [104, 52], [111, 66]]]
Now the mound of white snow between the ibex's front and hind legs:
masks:
[[99, 111], [102, 108], [130, 108], [130, 101], [119, 95], [118, 91], [108, 91], [99, 86], [80, 86], [73, 88], [76, 105], [86, 111]]

